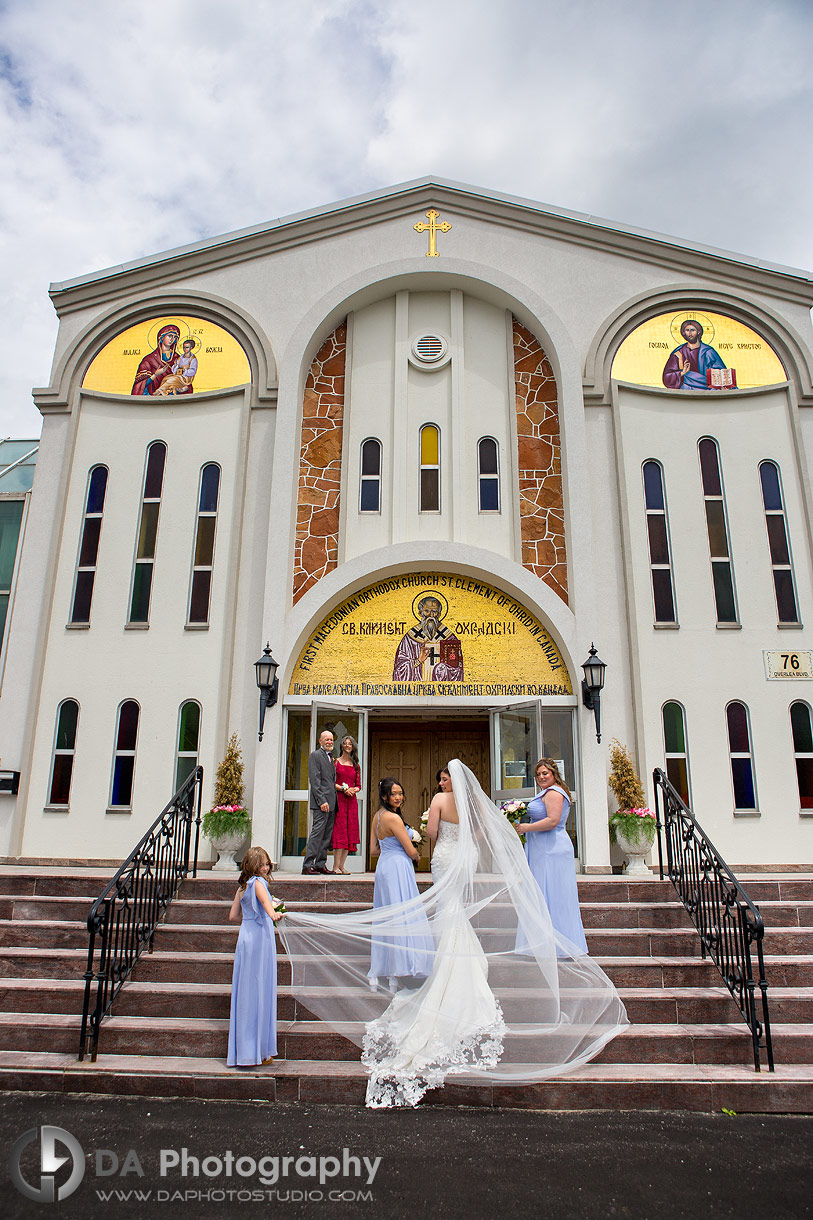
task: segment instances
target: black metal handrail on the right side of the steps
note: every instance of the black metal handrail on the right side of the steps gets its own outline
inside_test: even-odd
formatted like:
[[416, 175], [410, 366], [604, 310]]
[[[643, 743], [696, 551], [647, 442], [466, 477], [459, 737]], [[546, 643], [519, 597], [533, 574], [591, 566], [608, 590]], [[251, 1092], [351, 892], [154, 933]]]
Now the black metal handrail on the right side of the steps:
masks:
[[[667, 874], [699, 932], [701, 952], [723, 975], [742, 1013], [753, 1043], [753, 1065], [761, 1070], [765, 1050], [768, 1070], [774, 1070], [774, 1050], [768, 1016], [768, 981], [763, 941], [765, 925], [730, 867], [717, 850], [688, 805], [660, 767], [652, 773], [658, 825], [658, 864], [664, 877], [662, 834], [667, 839]], [[662, 816], [663, 814], [663, 816]], [[754, 980], [752, 947], [759, 976]], [[762, 997], [758, 1015], [757, 987]]]

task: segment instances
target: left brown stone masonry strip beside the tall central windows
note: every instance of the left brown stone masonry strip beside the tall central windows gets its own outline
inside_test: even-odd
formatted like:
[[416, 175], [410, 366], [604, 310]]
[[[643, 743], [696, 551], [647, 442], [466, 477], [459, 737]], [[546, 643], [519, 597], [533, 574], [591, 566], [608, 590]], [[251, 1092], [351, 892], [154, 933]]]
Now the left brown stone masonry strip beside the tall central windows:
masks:
[[325, 339], [310, 366], [302, 407], [293, 601], [338, 561], [347, 323]]

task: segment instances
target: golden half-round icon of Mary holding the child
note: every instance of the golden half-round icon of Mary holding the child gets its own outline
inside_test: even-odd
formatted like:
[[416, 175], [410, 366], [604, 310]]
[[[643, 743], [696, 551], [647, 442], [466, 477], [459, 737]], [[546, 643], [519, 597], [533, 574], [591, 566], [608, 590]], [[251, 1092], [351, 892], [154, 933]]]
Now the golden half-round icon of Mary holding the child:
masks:
[[92, 361], [82, 388], [160, 399], [250, 379], [248, 357], [227, 331], [173, 314], [139, 322], [111, 339]]

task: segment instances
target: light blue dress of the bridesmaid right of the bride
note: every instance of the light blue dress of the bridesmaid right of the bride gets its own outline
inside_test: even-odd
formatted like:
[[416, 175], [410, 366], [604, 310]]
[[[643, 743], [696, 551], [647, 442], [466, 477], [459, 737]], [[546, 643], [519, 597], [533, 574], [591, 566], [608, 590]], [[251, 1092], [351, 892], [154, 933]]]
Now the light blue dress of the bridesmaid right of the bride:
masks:
[[[554, 826], [553, 830], [532, 831], [525, 836], [525, 855], [548, 905], [554, 930], [566, 937], [580, 954], [587, 953], [587, 941], [585, 939], [585, 930], [581, 926], [581, 911], [579, 910], [575, 856], [573, 843], [568, 834], [570, 798], [558, 784], [552, 784], [543, 793], [540, 793], [538, 797], [533, 797], [529, 802], [527, 811], [532, 822], [538, 822], [546, 817], [547, 813], [543, 798], [548, 792], [558, 792], [562, 795], [564, 802], [562, 817], [558, 826]], [[558, 953], [559, 956], [563, 955], [560, 949]]]

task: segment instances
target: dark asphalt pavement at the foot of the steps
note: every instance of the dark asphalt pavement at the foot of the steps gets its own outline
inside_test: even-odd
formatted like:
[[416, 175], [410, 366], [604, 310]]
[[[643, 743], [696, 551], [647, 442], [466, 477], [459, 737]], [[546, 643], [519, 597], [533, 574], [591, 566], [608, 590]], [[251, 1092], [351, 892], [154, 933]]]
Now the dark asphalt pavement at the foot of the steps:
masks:
[[813, 1216], [800, 1115], [7, 1093], [0, 1143], [4, 1220]]

